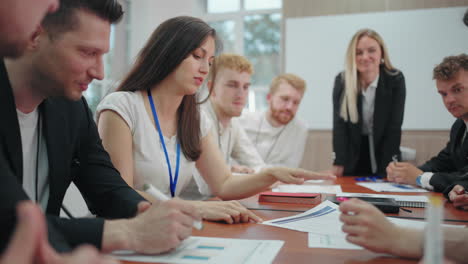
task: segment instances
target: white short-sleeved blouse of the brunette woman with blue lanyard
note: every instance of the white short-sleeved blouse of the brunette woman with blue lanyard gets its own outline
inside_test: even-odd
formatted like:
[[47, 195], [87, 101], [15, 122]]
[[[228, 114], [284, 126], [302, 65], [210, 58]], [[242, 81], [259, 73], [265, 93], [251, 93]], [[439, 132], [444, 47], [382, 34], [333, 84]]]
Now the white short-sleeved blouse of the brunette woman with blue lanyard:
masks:
[[[153, 96], [157, 96], [153, 95]], [[134, 188], [143, 190], [146, 183], [152, 184], [168, 197], [171, 196], [169, 171], [164, 150], [154, 126], [153, 116], [150, 116], [144, 105], [142, 92], [114, 92], [101, 101], [96, 110], [97, 122], [104, 110], [112, 110], [119, 114], [127, 123], [132, 133]], [[156, 106], [157, 108], [157, 106]], [[200, 112], [200, 129], [202, 138], [208, 134], [210, 122], [203, 112]], [[177, 135], [164, 137], [167, 153], [171, 163], [172, 176], [175, 177]], [[196, 171], [195, 162], [189, 161], [180, 152], [180, 168], [175, 195], [180, 196]]]

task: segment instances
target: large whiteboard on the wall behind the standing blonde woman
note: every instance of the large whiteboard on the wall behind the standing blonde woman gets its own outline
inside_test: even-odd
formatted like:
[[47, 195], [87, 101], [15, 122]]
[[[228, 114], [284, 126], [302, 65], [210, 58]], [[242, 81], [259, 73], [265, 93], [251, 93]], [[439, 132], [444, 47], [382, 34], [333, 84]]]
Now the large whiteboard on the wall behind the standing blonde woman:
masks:
[[343, 71], [353, 34], [376, 30], [384, 39], [392, 64], [406, 79], [403, 129], [450, 129], [447, 112], [432, 80], [432, 69], [448, 55], [468, 53], [466, 7], [394, 11], [286, 20], [286, 72], [307, 82], [298, 116], [311, 129], [333, 128], [332, 91]]

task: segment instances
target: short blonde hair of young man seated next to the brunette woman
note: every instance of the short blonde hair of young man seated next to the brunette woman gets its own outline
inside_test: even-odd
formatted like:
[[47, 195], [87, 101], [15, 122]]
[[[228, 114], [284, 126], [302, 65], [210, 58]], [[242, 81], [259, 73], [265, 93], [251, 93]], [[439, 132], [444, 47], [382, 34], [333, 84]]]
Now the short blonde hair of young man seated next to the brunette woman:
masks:
[[254, 72], [252, 63], [246, 57], [232, 53], [223, 53], [214, 59], [208, 80], [214, 81], [218, 72], [223, 68], [248, 74], [253, 74]]

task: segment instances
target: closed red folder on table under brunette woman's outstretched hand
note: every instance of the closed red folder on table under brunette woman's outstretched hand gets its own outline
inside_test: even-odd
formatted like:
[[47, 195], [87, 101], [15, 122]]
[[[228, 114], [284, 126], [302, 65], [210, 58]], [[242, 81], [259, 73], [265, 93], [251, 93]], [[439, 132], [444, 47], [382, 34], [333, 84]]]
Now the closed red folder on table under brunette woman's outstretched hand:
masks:
[[322, 199], [320, 193], [261, 192], [258, 196], [258, 201], [267, 203], [319, 204]]

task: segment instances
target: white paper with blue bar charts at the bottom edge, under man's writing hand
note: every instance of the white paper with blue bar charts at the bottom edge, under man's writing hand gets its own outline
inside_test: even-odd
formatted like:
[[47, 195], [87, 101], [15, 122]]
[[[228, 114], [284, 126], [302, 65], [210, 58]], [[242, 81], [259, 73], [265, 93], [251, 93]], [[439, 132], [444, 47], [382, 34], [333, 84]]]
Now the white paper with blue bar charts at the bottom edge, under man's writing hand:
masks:
[[114, 251], [120, 260], [148, 263], [214, 264], [271, 263], [283, 246], [280, 240], [250, 240], [192, 236], [175, 250], [160, 255], [141, 255], [133, 251]]

